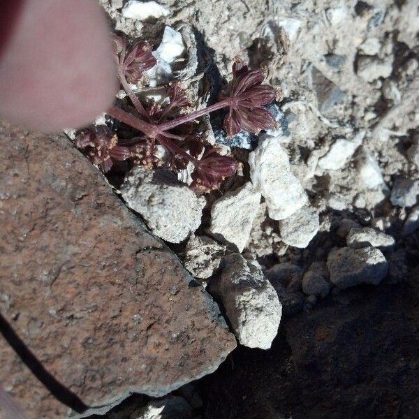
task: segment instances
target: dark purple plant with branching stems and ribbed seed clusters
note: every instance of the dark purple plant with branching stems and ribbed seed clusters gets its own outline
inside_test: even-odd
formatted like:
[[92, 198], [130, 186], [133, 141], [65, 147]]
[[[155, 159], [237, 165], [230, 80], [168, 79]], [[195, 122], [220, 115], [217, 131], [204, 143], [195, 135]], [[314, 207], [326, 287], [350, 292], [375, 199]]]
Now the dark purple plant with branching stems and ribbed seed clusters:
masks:
[[140, 135], [131, 140], [118, 140], [115, 134], [102, 128], [79, 135], [75, 145], [83, 149], [91, 162], [103, 172], [108, 172], [115, 161], [124, 160], [149, 168], [159, 166], [163, 163], [156, 156], [156, 145], [159, 144], [170, 156], [166, 164], [172, 170], [182, 170], [188, 163], [193, 164], [191, 187], [197, 193], [206, 193], [218, 189], [226, 177], [233, 176], [237, 162], [232, 156], [221, 155], [217, 147], [205, 144], [203, 138], [190, 132], [190, 124], [187, 123], [215, 110], [228, 108], [228, 115], [224, 119], [228, 136], [237, 134], [240, 129], [257, 133], [275, 125], [272, 115], [262, 108], [274, 100], [274, 89], [262, 84], [265, 78], [262, 71], [249, 70], [240, 61], [233, 64], [233, 80], [214, 105], [176, 116], [179, 110], [184, 110], [190, 103], [179, 84], [173, 83], [168, 89], [170, 103], [166, 108], [161, 109], [156, 105], [145, 107], [128, 82], [138, 82], [142, 74], [156, 64], [152, 47], [147, 42], [128, 47], [124, 39], [119, 37], [115, 37], [114, 43], [117, 76], [139, 116], [117, 106], [107, 113], [140, 131]]

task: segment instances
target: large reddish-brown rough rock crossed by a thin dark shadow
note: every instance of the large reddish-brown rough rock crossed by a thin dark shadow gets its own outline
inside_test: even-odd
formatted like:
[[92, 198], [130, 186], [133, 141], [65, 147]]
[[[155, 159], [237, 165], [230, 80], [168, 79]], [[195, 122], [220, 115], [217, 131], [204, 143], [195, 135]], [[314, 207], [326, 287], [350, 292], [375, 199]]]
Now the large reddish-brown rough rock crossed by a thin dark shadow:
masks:
[[[66, 404], [164, 395], [235, 347], [210, 296], [68, 140], [1, 124], [0, 172], [1, 332]], [[29, 419], [66, 416], [3, 338], [0, 380]]]

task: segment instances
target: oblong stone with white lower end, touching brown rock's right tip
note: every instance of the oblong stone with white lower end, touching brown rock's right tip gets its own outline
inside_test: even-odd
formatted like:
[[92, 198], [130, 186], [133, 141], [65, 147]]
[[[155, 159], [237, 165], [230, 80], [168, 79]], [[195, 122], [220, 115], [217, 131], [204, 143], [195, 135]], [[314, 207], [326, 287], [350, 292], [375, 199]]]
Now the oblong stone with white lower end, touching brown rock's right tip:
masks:
[[270, 348], [281, 320], [281, 303], [257, 267], [240, 254], [227, 256], [220, 277], [210, 283], [210, 291], [221, 300], [240, 344]]

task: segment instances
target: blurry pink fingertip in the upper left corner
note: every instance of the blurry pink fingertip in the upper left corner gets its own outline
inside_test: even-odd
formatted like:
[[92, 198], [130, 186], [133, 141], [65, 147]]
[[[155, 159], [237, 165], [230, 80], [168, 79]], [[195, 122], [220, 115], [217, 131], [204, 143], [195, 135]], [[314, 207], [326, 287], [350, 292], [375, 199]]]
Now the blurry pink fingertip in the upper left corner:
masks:
[[96, 0], [0, 0], [0, 27], [0, 117], [54, 132], [110, 108], [118, 82]]

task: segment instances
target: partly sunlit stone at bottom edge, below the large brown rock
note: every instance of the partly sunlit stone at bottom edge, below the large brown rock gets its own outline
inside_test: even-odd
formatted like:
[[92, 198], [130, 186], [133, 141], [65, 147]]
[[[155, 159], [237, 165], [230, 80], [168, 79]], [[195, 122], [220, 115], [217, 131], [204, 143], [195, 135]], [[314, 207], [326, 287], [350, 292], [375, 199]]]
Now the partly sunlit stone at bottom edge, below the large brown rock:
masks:
[[135, 410], [131, 418], [135, 419], [191, 419], [192, 407], [183, 397], [168, 396], [152, 400], [146, 406]]

